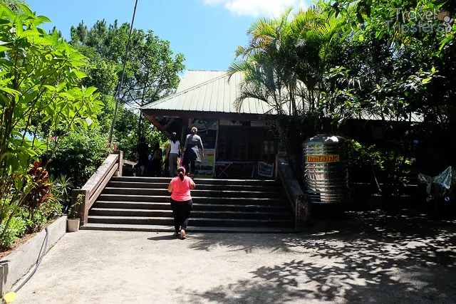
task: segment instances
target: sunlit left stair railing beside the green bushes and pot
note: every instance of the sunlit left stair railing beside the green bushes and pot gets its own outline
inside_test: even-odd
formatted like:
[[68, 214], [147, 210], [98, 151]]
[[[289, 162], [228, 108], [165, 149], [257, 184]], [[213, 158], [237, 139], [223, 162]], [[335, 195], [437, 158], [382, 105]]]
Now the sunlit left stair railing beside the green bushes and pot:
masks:
[[109, 154], [97, 171], [88, 179], [81, 189], [74, 189], [72, 192], [72, 205], [76, 204], [78, 196], [82, 195], [82, 204], [79, 206], [79, 219], [81, 226], [87, 224], [88, 211], [96, 201], [100, 193], [106, 187], [113, 176], [122, 176], [123, 152], [115, 151]]

